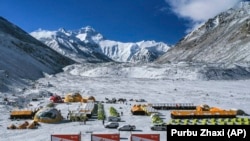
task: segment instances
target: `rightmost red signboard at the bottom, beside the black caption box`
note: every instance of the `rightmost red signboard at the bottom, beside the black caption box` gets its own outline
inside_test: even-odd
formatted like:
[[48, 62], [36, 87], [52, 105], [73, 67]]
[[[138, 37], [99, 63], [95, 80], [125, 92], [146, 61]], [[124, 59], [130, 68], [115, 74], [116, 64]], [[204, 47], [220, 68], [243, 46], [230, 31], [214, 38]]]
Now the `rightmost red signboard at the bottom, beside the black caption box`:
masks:
[[160, 141], [160, 134], [131, 134], [130, 141]]

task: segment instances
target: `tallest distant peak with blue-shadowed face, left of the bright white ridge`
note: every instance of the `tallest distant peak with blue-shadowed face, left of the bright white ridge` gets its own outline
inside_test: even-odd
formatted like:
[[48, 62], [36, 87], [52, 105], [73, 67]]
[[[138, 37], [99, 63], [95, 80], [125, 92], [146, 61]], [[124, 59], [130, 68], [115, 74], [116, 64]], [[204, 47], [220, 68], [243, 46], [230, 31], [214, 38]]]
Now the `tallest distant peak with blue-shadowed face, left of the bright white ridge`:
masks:
[[60, 54], [77, 62], [112, 61], [101, 52], [96, 44], [103, 39], [103, 36], [89, 26], [76, 31], [66, 31], [63, 28], [58, 31], [39, 29], [30, 34]]

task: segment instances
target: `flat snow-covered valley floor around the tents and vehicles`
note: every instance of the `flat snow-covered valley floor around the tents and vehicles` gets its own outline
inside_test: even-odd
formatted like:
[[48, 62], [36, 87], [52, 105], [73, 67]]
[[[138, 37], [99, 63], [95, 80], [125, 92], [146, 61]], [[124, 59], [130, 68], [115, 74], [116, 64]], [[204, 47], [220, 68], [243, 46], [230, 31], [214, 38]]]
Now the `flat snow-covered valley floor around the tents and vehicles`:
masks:
[[[49, 85], [48, 85], [49, 84]], [[105, 98], [145, 99], [146, 103], [193, 103], [195, 105], [208, 104], [225, 109], [242, 109], [250, 113], [250, 80], [238, 81], [199, 81], [199, 80], [164, 80], [144, 78], [117, 78], [117, 77], [86, 77], [60, 73], [40, 79], [34, 89], [28, 89], [23, 94], [38, 95], [41, 91], [49, 91], [60, 96], [79, 92], [82, 96], [94, 96], [97, 101]], [[49, 97], [33, 102], [34, 106], [42, 106], [49, 102]], [[136, 125], [136, 133], [159, 133], [161, 141], [166, 140], [166, 132], [151, 131], [152, 124], [149, 116], [131, 115], [130, 109], [137, 102], [127, 104], [105, 104], [105, 112], [113, 106], [123, 112], [120, 124]], [[75, 103], [77, 106], [77, 103]], [[74, 104], [57, 104], [66, 118], [69, 107]], [[92, 133], [119, 133], [117, 129], [106, 129], [102, 121], [93, 119], [86, 125], [81, 122], [63, 122], [58, 124], [44, 124], [33, 130], [7, 130], [11, 123], [9, 111], [13, 107], [0, 105], [0, 136], [4, 141], [50, 141], [50, 135], [56, 133], [82, 133], [82, 140], [90, 141]], [[170, 111], [159, 111], [165, 122], [170, 120]], [[129, 140], [130, 132], [120, 132], [121, 140]]]

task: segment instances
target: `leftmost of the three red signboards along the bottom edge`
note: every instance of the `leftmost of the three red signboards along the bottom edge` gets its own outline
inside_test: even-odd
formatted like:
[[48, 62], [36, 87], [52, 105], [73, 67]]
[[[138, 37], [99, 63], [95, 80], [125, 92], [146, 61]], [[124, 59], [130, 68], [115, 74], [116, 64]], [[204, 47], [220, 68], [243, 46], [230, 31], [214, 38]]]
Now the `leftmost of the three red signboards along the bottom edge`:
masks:
[[51, 141], [81, 141], [80, 134], [52, 134]]

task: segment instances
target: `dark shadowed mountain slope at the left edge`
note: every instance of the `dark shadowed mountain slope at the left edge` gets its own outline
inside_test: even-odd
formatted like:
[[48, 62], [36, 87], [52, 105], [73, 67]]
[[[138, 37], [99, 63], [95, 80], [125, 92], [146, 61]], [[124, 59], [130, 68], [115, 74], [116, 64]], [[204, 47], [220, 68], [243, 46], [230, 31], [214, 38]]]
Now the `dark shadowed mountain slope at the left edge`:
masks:
[[[0, 17], [0, 91], [25, 87], [25, 80], [62, 71], [75, 63]], [[12, 88], [11, 88], [12, 89]]]

